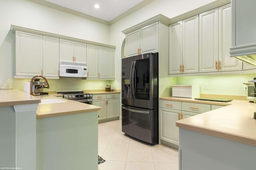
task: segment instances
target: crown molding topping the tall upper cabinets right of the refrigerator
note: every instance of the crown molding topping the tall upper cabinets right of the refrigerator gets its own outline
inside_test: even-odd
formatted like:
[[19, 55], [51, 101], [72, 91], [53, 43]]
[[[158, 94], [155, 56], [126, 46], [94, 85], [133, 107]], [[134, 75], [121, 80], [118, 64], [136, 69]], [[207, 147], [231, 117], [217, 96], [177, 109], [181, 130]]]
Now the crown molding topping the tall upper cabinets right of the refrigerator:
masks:
[[178, 22], [178, 21], [181, 21], [181, 20], [184, 20], [184, 19], [186, 19], [186, 18], [190, 18], [190, 17], [192, 17], [192, 16], [196, 16], [196, 15], [198, 15], [198, 14], [201, 14], [201, 13], [206, 12], [206, 11], [208, 11], [208, 10], [212, 10], [212, 9], [214, 9], [214, 8], [217, 8], [217, 7], [219, 7], [219, 6], [228, 4], [228, 3], [230, 3], [230, 2], [231, 2], [231, 0], [216, 0], [216, 1], [214, 1], [214, 2], [211, 2], [210, 4], [206, 4], [206, 5], [201, 6], [201, 7], [199, 7], [199, 8], [196, 8], [196, 9], [194, 9], [194, 10], [191, 10], [191, 11], [189, 11], [189, 12], [186, 12], [186, 13], [184, 13], [184, 14], [181, 14], [181, 15], [179, 15], [179, 16], [176, 16], [176, 17], [174, 17], [174, 18], [171, 18], [171, 19], [170, 19], [170, 24], [175, 23], [175, 22]]

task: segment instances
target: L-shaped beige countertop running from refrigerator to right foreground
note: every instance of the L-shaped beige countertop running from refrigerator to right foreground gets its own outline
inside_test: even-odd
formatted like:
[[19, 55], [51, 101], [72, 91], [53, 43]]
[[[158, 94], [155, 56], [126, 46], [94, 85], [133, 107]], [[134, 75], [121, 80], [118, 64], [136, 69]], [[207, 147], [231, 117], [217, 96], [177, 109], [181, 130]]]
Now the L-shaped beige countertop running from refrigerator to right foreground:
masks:
[[222, 105], [216, 110], [176, 121], [176, 126], [248, 145], [256, 146], [256, 104], [246, 100], [232, 102], [198, 101], [190, 98], [160, 98], [180, 102]]

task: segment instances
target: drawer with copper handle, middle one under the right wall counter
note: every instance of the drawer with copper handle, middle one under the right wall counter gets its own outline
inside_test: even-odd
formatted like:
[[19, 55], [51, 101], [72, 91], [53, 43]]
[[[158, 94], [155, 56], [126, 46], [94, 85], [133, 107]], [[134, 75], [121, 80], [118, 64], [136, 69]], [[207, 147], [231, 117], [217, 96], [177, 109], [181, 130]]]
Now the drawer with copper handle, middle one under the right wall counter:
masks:
[[182, 110], [196, 112], [196, 113], [204, 113], [206, 111], [211, 110], [211, 105], [210, 104], [182, 102]]

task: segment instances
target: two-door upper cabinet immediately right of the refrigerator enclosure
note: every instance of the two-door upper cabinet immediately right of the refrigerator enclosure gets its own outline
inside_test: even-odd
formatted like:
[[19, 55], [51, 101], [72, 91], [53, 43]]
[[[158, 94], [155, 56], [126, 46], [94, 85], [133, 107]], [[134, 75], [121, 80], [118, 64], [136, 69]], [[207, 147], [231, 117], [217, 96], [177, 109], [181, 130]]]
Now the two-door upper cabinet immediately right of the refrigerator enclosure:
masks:
[[198, 15], [169, 25], [169, 74], [198, 72]]

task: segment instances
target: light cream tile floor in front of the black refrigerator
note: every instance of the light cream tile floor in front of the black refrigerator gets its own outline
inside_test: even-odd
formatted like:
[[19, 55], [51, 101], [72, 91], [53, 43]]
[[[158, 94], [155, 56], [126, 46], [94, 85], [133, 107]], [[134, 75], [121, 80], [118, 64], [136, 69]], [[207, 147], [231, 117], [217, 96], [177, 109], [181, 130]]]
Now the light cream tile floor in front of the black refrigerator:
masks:
[[178, 170], [178, 150], [145, 145], [122, 132], [121, 120], [99, 123], [98, 170]]

